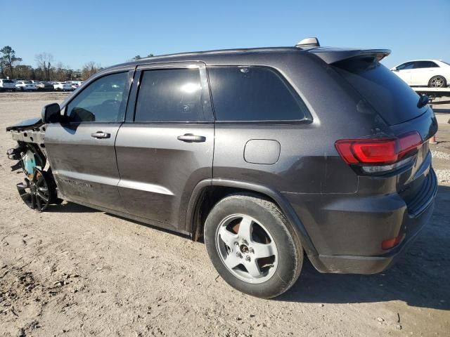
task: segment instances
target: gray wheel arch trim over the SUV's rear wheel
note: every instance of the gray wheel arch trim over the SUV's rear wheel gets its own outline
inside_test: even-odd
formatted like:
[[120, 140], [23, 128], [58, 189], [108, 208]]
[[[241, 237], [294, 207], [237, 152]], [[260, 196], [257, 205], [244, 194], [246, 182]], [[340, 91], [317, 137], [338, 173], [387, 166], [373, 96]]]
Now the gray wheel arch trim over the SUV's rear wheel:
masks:
[[[288, 218], [289, 223], [293, 225], [293, 230], [295, 230], [307, 255], [317, 255], [314, 244], [312, 244], [302, 221], [282, 194], [272, 190], [270, 187], [240, 180], [221, 178], [205, 179], [195, 186], [191, 198], [189, 199], [186, 212], [186, 232], [192, 233], [194, 241], [198, 241], [202, 236], [204, 220], [207, 213], [209, 213], [212, 207], [217, 204], [217, 201], [223, 199], [226, 195], [236, 192], [258, 194], [265, 199], [274, 202], [274, 204], [283, 211], [286, 218]], [[208, 198], [212, 194], [215, 194], [214, 197]]]

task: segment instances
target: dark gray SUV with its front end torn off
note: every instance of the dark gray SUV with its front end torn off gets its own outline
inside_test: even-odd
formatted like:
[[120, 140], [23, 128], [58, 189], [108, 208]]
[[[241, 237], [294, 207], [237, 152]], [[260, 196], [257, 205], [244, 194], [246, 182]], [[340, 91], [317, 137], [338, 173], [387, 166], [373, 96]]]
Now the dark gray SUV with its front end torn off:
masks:
[[271, 298], [320, 272], [388, 267], [437, 191], [426, 97], [387, 50], [184, 53], [102, 70], [11, 126], [32, 209], [61, 199], [205, 241], [226, 282]]

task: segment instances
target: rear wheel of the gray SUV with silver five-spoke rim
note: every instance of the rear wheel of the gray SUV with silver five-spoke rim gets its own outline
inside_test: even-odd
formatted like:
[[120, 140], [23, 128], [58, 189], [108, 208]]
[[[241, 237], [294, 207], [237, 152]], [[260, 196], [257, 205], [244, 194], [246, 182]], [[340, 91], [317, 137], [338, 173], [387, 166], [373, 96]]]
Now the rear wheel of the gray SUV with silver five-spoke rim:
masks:
[[221, 199], [207, 216], [204, 235], [219, 275], [243, 293], [281, 295], [302, 270], [303, 249], [293, 227], [273, 202], [253, 194]]

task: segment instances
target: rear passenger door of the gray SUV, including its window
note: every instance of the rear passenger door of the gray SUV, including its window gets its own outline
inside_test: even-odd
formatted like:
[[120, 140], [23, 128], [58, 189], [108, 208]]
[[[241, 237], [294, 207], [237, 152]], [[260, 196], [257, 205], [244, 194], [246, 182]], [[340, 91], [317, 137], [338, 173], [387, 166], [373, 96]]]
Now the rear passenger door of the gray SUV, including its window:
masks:
[[212, 178], [214, 119], [202, 62], [136, 68], [115, 144], [127, 212], [185, 231], [195, 185]]

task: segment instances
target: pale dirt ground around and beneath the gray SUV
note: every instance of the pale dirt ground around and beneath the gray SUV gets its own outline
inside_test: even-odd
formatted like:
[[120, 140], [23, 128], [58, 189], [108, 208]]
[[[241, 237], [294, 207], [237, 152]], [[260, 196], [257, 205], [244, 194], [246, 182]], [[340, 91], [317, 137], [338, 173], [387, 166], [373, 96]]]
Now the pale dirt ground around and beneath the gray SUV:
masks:
[[60, 93], [0, 93], [1, 336], [449, 336], [450, 110], [437, 110], [435, 213], [378, 275], [323, 275], [262, 300], [233, 290], [201, 243], [71, 203], [21, 201], [5, 127]]

